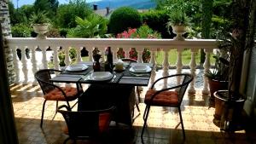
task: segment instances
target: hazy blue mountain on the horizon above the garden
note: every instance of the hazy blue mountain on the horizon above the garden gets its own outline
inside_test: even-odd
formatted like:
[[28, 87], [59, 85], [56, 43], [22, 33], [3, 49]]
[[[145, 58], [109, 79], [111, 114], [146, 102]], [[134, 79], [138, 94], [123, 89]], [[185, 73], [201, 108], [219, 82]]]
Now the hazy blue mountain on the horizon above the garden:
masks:
[[134, 9], [151, 9], [155, 7], [155, 3], [152, 0], [100, 0], [90, 4], [98, 5], [98, 9], [106, 9], [106, 7], [117, 9], [124, 6]]

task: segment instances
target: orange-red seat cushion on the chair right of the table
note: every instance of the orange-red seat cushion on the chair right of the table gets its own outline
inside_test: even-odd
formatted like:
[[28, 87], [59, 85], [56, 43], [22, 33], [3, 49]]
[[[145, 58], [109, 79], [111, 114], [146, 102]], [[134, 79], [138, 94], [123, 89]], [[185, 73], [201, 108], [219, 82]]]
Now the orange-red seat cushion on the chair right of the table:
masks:
[[[157, 91], [154, 89], [148, 89], [145, 95], [145, 103], [149, 104], [151, 96], [153, 96]], [[178, 104], [178, 95], [176, 91], [162, 91], [160, 94], [155, 95], [151, 105], [157, 106], [172, 106]]]

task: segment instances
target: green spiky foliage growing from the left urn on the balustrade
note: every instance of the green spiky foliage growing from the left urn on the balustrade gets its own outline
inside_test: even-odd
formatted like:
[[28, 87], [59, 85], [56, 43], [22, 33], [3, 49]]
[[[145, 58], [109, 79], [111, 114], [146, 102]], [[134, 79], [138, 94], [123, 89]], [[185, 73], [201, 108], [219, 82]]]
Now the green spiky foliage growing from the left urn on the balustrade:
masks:
[[29, 20], [31, 24], [45, 24], [45, 23], [49, 23], [50, 21], [49, 18], [47, 17], [47, 12], [45, 11], [33, 12]]

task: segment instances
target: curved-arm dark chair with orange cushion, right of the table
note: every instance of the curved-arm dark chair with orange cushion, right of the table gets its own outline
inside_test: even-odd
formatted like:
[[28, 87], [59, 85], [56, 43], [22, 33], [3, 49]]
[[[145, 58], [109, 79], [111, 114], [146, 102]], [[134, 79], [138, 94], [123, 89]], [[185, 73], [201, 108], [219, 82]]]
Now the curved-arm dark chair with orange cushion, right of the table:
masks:
[[[182, 83], [181, 84], [174, 84], [172, 87], [163, 88], [156, 90], [156, 84], [160, 84], [161, 80], [172, 80], [172, 78], [180, 78]], [[146, 95], [145, 95], [145, 104], [146, 108], [143, 114], [143, 130], [141, 133], [141, 138], [143, 140], [143, 133], [145, 130], [145, 127], [147, 125], [148, 120], [148, 113], [150, 110], [150, 107], [177, 107], [179, 118], [180, 118], [180, 124], [182, 125], [183, 130], [183, 138], [185, 139], [185, 131], [183, 127], [183, 118], [181, 114], [181, 103], [183, 101], [183, 95], [186, 92], [186, 89], [189, 86], [189, 83], [193, 80], [193, 76], [190, 74], [174, 74], [167, 77], [159, 78], [157, 79], [154, 84], [151, 86], [150, 89], [148, 89]], [[171, 84], [168, 84], [171, 85]]]

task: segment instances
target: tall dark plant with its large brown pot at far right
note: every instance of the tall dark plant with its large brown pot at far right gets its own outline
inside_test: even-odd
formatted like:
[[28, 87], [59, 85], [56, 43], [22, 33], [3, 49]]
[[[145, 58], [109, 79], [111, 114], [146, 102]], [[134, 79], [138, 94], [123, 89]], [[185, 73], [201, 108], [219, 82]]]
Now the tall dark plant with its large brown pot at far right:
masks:
[[[245, 99], [240, 93], [242, 65], [245, 52], [250, 51], [254, 45], [256, 1], [237, 0], [230, 6], [233, 8], [230, 14], [231, 32], [224, 32], [224, 38], [221, 38], [219, 44], [219, 48], [227, 50], [230, 55], [229, 86], [214, 94], [216, 100], [222, 101], [222, 109], [218, 110], [220, 120], [214, 124], [222, 130], [234, 131], [242, 126], [241, 110]], [[215, 106], [216, 104], [215, 101]], [[215, 114], [216, 111], [215, 109]]]

